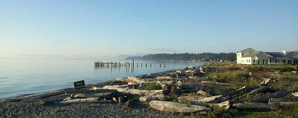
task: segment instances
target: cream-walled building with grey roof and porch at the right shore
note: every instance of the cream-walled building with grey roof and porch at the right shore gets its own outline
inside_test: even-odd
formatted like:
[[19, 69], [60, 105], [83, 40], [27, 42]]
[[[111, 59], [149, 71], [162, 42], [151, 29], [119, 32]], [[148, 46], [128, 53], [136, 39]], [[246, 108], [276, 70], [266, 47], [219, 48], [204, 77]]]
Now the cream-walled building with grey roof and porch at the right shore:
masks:
[[262, 52], [248, 48], [236, 54], [238, 64], [298, 64], [298, 51]]

